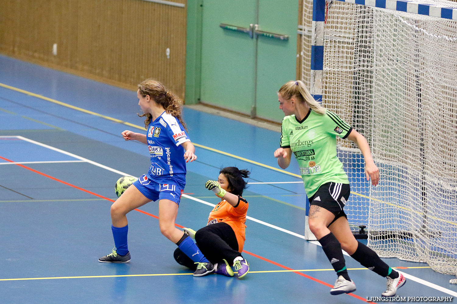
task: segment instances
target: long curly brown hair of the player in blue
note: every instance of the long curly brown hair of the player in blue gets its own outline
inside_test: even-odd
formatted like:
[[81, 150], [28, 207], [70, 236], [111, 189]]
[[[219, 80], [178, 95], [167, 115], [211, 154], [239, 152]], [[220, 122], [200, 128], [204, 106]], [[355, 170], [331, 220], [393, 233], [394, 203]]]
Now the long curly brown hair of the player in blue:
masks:
[[[171, 114], [182, 124], [184, 129], [186, 129], [186, 124], [181, 117], [181, 107], [182, 101], [175, 94], [170, 91], [167, 91], [164, 85], [154, 79], [146, 79], [140, 84], [138, 84], [138, 90], [141, 96], [146, 97], [149, 95], [151, 99], [154, 99], [156, 103], [164, 107], [165, 112]], [[148, 125], [151, 122], [152, 115], [149, 113], [143, 113], [139, 117], [146, 117], [144, 120], [144, 127], [148, 129]]]

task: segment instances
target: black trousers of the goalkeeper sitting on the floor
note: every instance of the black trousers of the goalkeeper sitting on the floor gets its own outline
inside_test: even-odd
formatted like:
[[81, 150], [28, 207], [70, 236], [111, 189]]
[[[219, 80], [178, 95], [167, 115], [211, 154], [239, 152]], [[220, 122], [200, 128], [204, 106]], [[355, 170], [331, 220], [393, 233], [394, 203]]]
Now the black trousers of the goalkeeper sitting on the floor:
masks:
[[[238, 252], [238, 241], [236, 240], [235, 232], [232, 227], [223, 222], [199, 229], [195, 234], [195, 241], [204, 256], [213, 264], [226, 259], [231, 265], [234, 258], [241, 256], [241, 253]], [[197, 269], [197, 264], [186, 256], [179, 247], [176, 248], [173, 255], [179, 264], [192, 270]]]

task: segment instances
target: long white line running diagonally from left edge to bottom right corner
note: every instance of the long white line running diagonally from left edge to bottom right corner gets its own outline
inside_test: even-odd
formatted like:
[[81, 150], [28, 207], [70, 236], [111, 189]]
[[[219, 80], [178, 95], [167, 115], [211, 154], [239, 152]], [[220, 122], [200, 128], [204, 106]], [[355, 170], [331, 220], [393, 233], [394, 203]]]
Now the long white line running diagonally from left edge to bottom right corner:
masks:
[[[106, 170], [108, 170], [108, 171], [111, 171], [111, 172], [120, 174], [120, 175], [122, 175], [122, 176], [126, 176], [126, 175], [127, 175], [127, 176], [133, 176], [133, 175], [124, 173], [124, 172], [122, 172], [122, 171], [119, 171], [119, 170], [110, 168], [110, 167], [108, 167], [108, 166], [101, 165], [101, 164], [99, 164], [99, 163], [97, 163], [97, 162], [95, 162], [95, 161], [88, 160], [88, 159], [86, 159], [86, 158], [84, 158], [84, 157], [75, 155], [75, 154], [73, 154], [73, 153], [70, 153], [70, 152], [67, 152], [67, 151], [64, 151], [64, 150], [61, 150], [61, 149], [54, 148], [54, 147], [49, 146], [49, 145], [47, 145], [47, 144], [42, 144], [42, 143], [40, 143], [40, 142], [37, 142], [37, 141], [32, 140], [32, 139], [25, 138], [25, 137], [22, 137], [22, 136], [0, 136], [0, 138], [1, 138], [1, 137], [15, 137], [15, 138], [18, 138], [18, 139], [22, 139], [22, 140], [25, 140], [25, 141], [27, 141], [27, 142], [29, 142], [29, 143], [37, 144], [37, 145], [39, 145], [39, 146], [42, 146], [42, 147], [51, 149], [51, 150], [53, 150], [53, 151], [57, 151], [57, 152], [60, 152], [60, 153], [65, 154], [65, 155], [72, 156], [72, 157], [77, 158], [77, 159], [79, 159], [79, 160], [85, 160], [86, 162], [88, 162], [88, 163], [90, 163], [90, 164], [92, 164], [92, 165], [95, 165], [95, 166], [97, 166], [97, 167], [106, 169]], [[208, 205], [208, 206], [213, 206], [213, 207], [216, 206], [216, 205], [211, 204], [211, 203], [209, 203], [209, 202], [207, 202], [207, 201], [203, 201], [203, 200], [200, 200], [200, 199], [198, 199], [198, 198], [195, 198], [195, 197], [192, 197], [192, 196], [188, 196], [188, 195], [186, 195], [186, 194], [183, 194], [182, 196], [184, 196], [185, 198], [191, 199], [191, 200], [193, 200], [193, 201], [198, 201], [198, 202], [200, 202], [200, 203], [202, 203], [202, 204], [205, 204], [205, 205]], [[288, 233], [288, 234], [290, 234], [290, 235], [293, 235], [293, 236], [295, 236], [295, 237], [299, 237], [299, 238], [302, 238], [302, 239], [305, 239], [305, 240], [306, 240], [306, 238], [305, 238], [303, 235], [301, 235], [301, 234], [298, 234], [298, 233], [289, 231], [289, 230], [284, 229], [284, 228], [281, 228], [281, 227], [277, 227], [277, 226], [275, 226], [275, 225], [271, 225], [271, 224], [269, 224], [269, 223], [267, 223], [267, 222], [263, 222], [263, 221], [257, 220], [257, 219], [255, 219], [255, 218], [253, 218], [253, 217], [250, 217], [250, 216], [246, 216], [246, 218], [249, 219], [249, 220], [251, 220], [251, 221], [260, 223], [260, 224], [262, 224], [262, 225], [265, 225], [265, 226], [267, 226], [267, 227], [271, 227], [271, 228], [277, 229], [277, 230], [279, 230], [279, 231], [282, 231], [282, 232]], [[310, 241], [309, 243], [312, 243], [312, 244], [315, 244], [315, 245], [319, 245], [319, 246], [320, 246], [320, 243], [317, 242], [317, 241]], [[346, 252], [344, 252], [344, 253], [345, 253], [346, 255], [348, 255]], [[452, 295], [452, 296], [457, 297], [457, 293], [454, 292], [454, 291], [452, 291], [452, 290], [449, 290], [449, 289], [446, 289], [446, 288], [441, 287], [441, 286], [439, 286], [439, 285], [436, 285], [436, 284], [434, 284], [434, 283], [425, 281], [425, 280], [423, 280], [423, 279], [421, 279], [421, 278], [414, 277], [413, 275], [410, 275], [410, 274], [408, 274], [408, 273], [404, 273], [404, 271], [401, 271], [401, 272], [404, 274], [404, 276], [405, 276], [406, 278], [409, 278], [410, 280], [412, 280], [412, 281], [414, 281], [414, 282], [417, 282], [417, 283], [420, 283], [420, 284], [422, 284], [422, 285], [428, 286], [428, 287], [430, 287], [430, 288], [436, 289], [436, 290], [441, 291], [441, 292], [443, 292], [443, 293], [445, 293], [445, 294], [449, 294], [449, 295]]]

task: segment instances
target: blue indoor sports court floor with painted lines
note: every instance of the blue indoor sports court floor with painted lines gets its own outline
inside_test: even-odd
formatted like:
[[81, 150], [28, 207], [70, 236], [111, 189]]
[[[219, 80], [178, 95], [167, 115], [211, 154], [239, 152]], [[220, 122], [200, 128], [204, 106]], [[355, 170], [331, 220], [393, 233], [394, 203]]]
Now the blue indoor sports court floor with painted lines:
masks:
[[[144, 131], [139, 111], [134, 91], [0, 56], [1, 304], [344, 304], [381, 296], [386, 279], [350, 257], [356, 292], [329, 294], [336, 275], [317, 242], [303, 238], [306, 195], [297, 162], [286, 171], [277, 166], [278, 132], [190, 107], [183, 117], [198, 159], [187, 164], [176, 224], [206, 225], [218, 198], [204, 184], [220, 168], [250, 170], [248, 181], [257, 183], [243, 195], [250, 272], [193, 277], [175, 262], [176, 245], [160, 233], [154, 202], [128, 214], [131, 262], [99, 263], [114, 246], [116, 180], [150, 165], [147, 147], [121, 136]], [[259, 184], [266, 182], [289, 183]], [[457, 296], [449, 283], [455, 277], [425, 263], [384, 261], [406, 273], [399, 297]]]

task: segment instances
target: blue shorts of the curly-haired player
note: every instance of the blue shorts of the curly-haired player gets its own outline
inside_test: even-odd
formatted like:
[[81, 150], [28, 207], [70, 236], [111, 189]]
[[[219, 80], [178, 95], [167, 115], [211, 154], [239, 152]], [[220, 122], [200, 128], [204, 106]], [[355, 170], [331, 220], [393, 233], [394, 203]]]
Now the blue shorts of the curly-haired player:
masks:
[[154, 180], [150, 180], [146, 174], [141, 175], [132, 185], [151, 201], [166, 199], [174, 201], [178, 205], [184, 192], [178, 185], [159, 184]]

